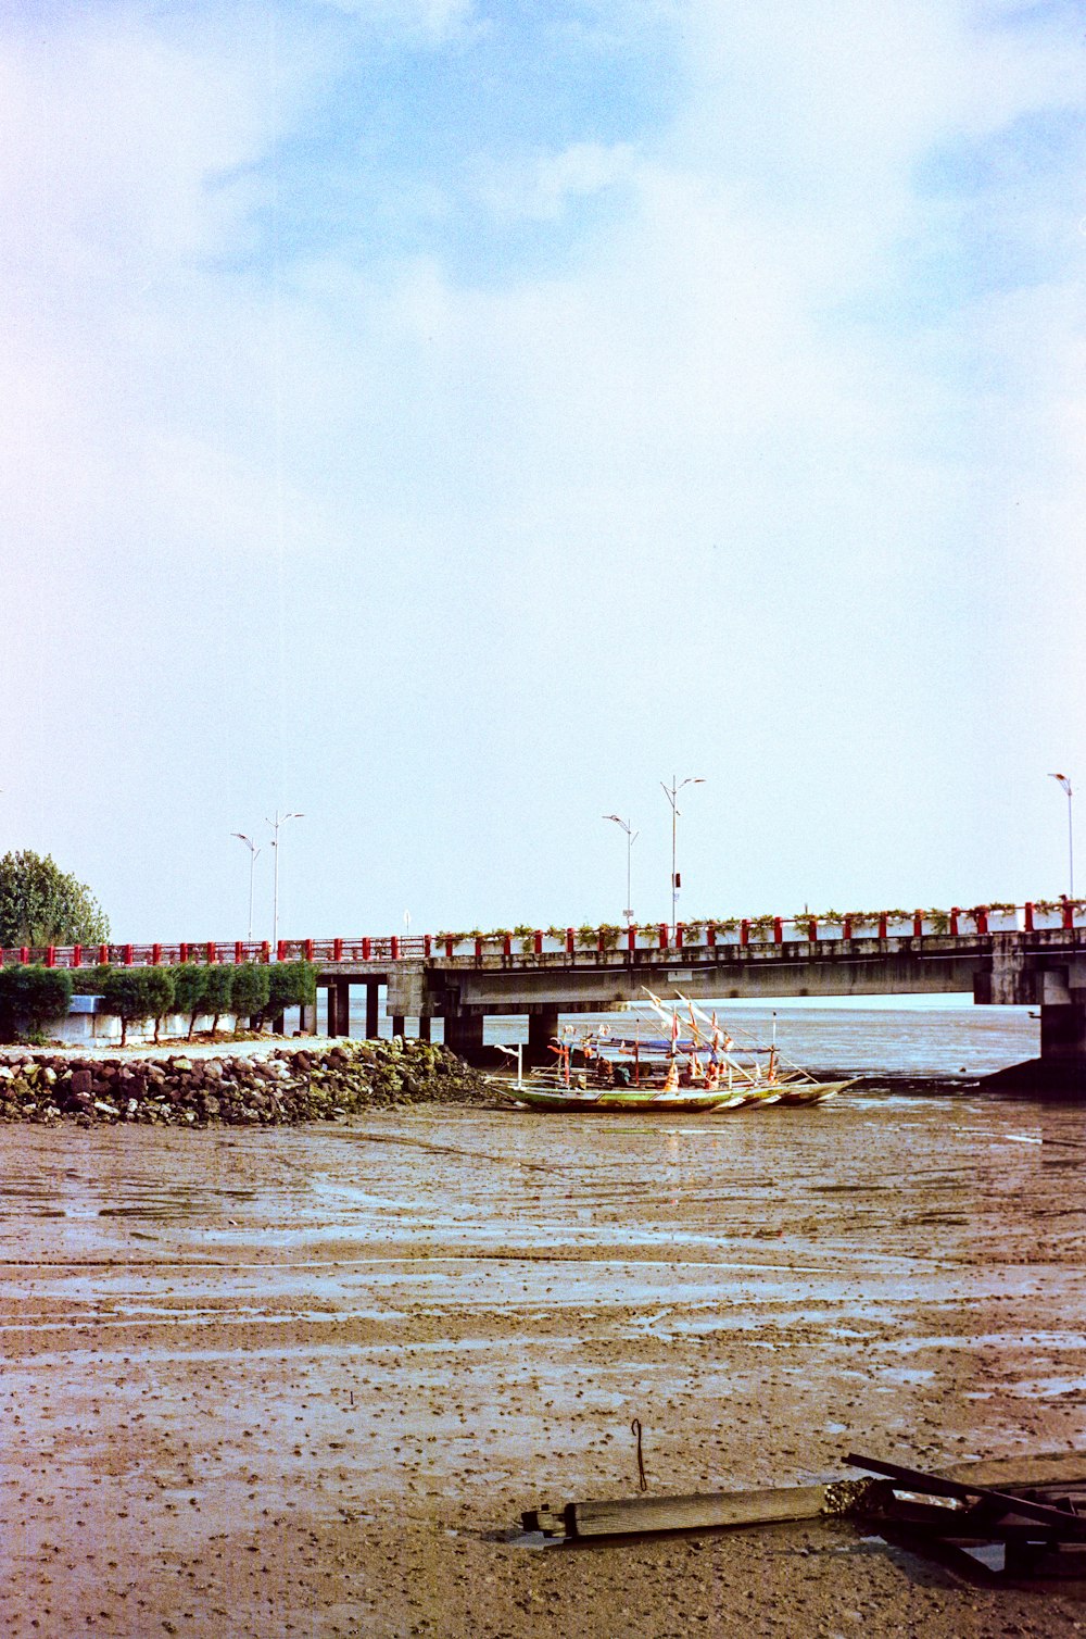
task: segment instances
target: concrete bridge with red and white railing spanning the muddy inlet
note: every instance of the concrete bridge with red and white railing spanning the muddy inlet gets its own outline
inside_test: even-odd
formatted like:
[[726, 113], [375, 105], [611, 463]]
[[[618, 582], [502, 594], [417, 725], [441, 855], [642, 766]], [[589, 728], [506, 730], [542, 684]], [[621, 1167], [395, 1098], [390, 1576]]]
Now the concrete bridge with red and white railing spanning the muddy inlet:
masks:
[[[95, 946], [3, 951], [57, 967], [98, 962], [270, 960], [267, 944]], [[785, 998], [966, 992], [980, 1005], [1040, 1010], [1040, 1057], [989, 1077], [1007, 1090], [1086, 1098], [1086, 908], [1022, 905], [965, 913], [875, 913], [821, 926], [758, 918], [652, 929], [549, 929], [518, 934], [280, 941], [277, 960], [306, 959], [328, 992], [328, 1029], [349, 1034], [351, 990], [367, 993], [365, 1034], [387, 987], [393, 1031], [431, 1019], [468, 1060], [483, 1057], [483, 1021], [527, 1016], [529, 1059], [547, 1057], [560, 1013], [598, 1013], [662, 997]], [[306, 1019], [313, 1026], [314, 1019]]]

